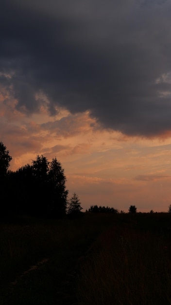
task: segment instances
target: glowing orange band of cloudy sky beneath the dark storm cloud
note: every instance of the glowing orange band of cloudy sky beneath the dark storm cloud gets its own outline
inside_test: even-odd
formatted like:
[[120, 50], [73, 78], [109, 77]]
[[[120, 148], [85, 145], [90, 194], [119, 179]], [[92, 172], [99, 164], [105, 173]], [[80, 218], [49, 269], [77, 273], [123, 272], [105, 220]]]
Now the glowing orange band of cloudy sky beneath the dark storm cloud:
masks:
[[171, 138], [149, 140], [99, 129], [88, 112], [74, 115], [59, 109], [52, 117], [43, 107], [40, 114], [26, 116], [15, 111], [14, 103], [2, 103], [1, 97], [0, 140], [13, 157], [11, 170], [31, 163], [37, 154], [48, 160], [56, 156], [69, 194], [78, 193], [84, 210], [91, 204], [167, 210]]

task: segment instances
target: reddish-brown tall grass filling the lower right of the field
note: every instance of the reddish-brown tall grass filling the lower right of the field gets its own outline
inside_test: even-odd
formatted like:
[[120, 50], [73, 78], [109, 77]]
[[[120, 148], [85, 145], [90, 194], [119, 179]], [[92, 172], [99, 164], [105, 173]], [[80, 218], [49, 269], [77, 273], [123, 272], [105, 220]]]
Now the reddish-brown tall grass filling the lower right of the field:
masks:
[[81, 262], [80, 305], [171, 304], [171, 236], [136, 227], [108, 229]]

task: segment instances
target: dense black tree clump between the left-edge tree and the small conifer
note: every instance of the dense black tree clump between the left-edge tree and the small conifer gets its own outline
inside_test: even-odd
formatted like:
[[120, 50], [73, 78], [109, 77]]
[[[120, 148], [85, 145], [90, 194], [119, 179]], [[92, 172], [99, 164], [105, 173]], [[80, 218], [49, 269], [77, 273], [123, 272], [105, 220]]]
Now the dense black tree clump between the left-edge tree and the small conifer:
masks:
[[66, 176], [56, 158], [49, 162], [43, 155], [37, 155], [32, 165], [9, 172], [8, 186], [12, 211], [53, 218], [66, 214]]

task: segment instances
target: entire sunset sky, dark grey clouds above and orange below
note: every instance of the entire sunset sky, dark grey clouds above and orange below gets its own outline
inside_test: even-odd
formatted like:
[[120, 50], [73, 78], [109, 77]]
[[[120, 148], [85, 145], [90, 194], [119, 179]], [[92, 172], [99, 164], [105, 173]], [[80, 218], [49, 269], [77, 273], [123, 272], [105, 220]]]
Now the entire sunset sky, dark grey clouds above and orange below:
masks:
[[1, 0], [10, 170], [56, 157], [83, 210], [171, 204], [171, 0]]

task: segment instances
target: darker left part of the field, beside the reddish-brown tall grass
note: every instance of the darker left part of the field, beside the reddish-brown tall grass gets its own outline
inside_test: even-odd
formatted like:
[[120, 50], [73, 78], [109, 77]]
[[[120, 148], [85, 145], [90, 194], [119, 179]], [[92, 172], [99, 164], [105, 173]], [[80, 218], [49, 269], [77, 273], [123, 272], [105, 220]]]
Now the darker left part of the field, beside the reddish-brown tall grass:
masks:
[[54, 305], [65, 297], [74, 299], [77, 260], [110, 223], [113, 218], [105, 215], [73, 220], [16, 215], [1, 221], [0, 305]]

